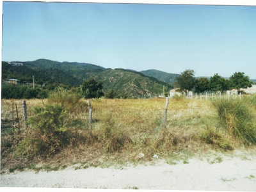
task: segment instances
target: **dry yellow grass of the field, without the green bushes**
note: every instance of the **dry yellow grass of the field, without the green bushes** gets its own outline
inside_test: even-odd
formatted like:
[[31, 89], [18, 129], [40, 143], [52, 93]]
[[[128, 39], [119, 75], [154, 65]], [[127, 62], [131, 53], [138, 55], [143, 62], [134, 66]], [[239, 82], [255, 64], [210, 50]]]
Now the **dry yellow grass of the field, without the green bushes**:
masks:
[[[252, 97], [253, 98], [253, 97]], [[253, 99], [252, 109], [253, 109]], [[15, 100], [21, 106], [21, 100]], [[57, 102], [57, 101], [56, 101]], [[53, 102], [53, 103], [56, 103]], [[211, 100], [190, 100], [174, 98], [169, 100], [167, 123], [164, 126], [165, 99], [92, 99], [93, 124], [92, 134], [89, 134], [88, 109], [86, 100], [77, 100], [70, 113], [67, 114], [67, 124], [70, 131], [65, 136], [67, 145], [60, 145], [51, 156], [34, 154], [29, 161], [47, 161], [54, 163], [80, 162], [89, 165], [122, 164], [152, 161], [154, 155], [170, 157], [175, 153], [203, 154], [209, 148], [232, 150], [239, 148], [243, 142], [234, 140], [225, 129], [216, 131], [218, 113], [212, 106]], [[2, 124], [10, 126], [10, 100], [2, 100]], [[33, 108], [45, 108], [42, 100], [27, 100], [28, 116], [35, 116]], [[51, 104], [44, 100], [44, 104]], [[67, 105], [68, 106], [68, 105]], [[76, 106], [76, 107], [74, 107]], [[65, 106], [64, 106], [65, 107]], [[22, 109], [19, 108], [22, 114]], [[252, 111], [255, 114], [255, 108]], [[20, 124], [23, 125], [20, 115]], [[22, 127], [22, 140], [29, 135], [36, 136], [36, 124]], [[8, 138], [9, 136], [9, 138]], [[12, 144], [12, 136], [1, 135], [10, 145], [1, 145], [4, 155], [3, 163], [7, 161], [29, 162], [28, 156], [19, 153], [22, 148], [36, 150], [32, 145], [23, 143]], [[51, 140], [50, 140], [51, 141]], [[49, 142], [50, 142], [49, 141]], [[2, 140], [1, 140], [2, 142]], [[8, 143], [8, 142], [7, 142]], [[5, 146], [5, 148], [4, 148]], [[13, 156], [15, 154], [16, 156]], [[141, 157], [140, 154], [145, 156]], [[21, 160], [20, 160], [21, 159]], [[22, 160], [23, 159], [23, 160]], [[27, 160], [26, 160], [27, 159]]]

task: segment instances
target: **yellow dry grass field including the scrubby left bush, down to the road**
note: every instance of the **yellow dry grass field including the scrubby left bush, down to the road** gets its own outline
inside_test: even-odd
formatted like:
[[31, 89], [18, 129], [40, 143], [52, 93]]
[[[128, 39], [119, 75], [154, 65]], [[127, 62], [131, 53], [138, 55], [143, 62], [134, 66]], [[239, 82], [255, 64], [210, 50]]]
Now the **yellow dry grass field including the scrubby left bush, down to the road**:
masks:
[[[179, 97], [169, 99], [166, 125], [166, 100], [163, 98], [92, 99], [91, 102], [92, 131], [88, 124], [88, 106], [85, 99], [74, 103], [62, 102], [67, 109], [61, 112], [65, 117], [59, 116], [55, 119], [61, 120], [58, 124], [61, 124], [60, 130], [64, 131], [60, 131], [55, 125], [50, 126], [53, 124], [51, 118], [40, 120], [40, 116], [44, 118], [42, 115], [45, 115], [46, 109], [38, 112], [38, 116], [35, 115], [34, 108], [44, 109], [48, 104], [52, 105], [52, 101], [26, 100], [28, 118], [36, 116], [26, 127], [22, 100], [2, 100], [3, 172], [24, 168], [58, 170], [76, 163], [83, 167], [137, 164], [153, 162], [156, 157], [170, 159], [170, 163], [186, 163], [188, 158], [204, 156], [212, 150], [228, 152], [234, 149], [255, 148], [255, 145], [244, 144], [243, 141], [227, 134], [221, 127], [216, 131], [219, 126], [218, 110], [214, 108], [211, 100]], [[16, 125], [13, 132], [12, 118], [17, 122], [15, 104], [19, 125]], [[255, 106], [250, 110], [255, 115]], [[50, 112], [49, 114], [54, 116], [54, 113]], [[252, 126], [255, 125], [255, 121], [252, 122]], [[44, 126], [59, 131], [43, 134]]]

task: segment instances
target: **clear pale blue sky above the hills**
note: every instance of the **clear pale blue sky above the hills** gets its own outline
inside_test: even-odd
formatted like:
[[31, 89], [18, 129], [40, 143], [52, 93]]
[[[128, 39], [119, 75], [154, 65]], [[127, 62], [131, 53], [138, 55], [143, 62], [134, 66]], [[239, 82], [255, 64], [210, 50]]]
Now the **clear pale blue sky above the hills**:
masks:
[[3, 2], [2, 61], [256, 79], [256, 6]]

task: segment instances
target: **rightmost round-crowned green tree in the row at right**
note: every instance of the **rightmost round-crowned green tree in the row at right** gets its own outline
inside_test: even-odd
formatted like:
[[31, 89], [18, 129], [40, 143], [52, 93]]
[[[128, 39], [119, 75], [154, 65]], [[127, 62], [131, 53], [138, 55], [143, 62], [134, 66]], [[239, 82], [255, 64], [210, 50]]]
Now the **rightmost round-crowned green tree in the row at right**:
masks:
[[241, 88], [252, 87], [249, 76], [244, 76], [244, 72], [235, 72], [230, 78], [230, 86], [240, 92]]

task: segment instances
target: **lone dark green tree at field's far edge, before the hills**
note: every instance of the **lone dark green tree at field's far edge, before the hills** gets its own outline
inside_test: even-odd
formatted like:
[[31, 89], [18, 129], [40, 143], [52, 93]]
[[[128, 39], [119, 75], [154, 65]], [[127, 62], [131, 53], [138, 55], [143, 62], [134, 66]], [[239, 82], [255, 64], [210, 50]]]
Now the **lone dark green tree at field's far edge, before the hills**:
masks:
[[84, 80], [83, 84], [81, 85], [83, 97], [86, 99], [99, 98], [104, 96], [102, 89], [102, 82], [99, 81], [98, 83], [93, 77], [90, 77], [88, 81]]

